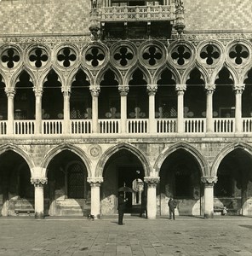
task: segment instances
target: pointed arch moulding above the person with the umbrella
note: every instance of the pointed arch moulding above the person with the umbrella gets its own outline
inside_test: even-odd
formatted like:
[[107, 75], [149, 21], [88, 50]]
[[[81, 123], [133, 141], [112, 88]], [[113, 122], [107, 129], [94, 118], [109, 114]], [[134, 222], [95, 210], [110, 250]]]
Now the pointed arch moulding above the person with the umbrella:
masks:
[[139, 148], [135, 148], [129, 143], [119, 143], [116, 146], [107, 149], [106, 152], [101, 155], [100, 160], [98, 161], [98, 164], [96, 166], [95, 177], [102, 177], [104, 166], [106, 165], [107, 160], [109, 160], [113, 154], [117, 153], [122, 149], [126, 149], [130, 153], [135, 154], [135, 156], [140, 160], [143, 166], [145, 176], [150, 175], [152, 168], [149, 161], [146, 159], [145, 154], [143, 154]]

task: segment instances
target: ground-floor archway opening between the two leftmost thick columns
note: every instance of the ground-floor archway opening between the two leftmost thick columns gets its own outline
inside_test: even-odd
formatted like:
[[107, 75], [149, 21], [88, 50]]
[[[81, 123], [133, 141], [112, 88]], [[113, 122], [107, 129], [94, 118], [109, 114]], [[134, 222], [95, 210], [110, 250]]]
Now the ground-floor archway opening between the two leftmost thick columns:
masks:
[[70, 150], [56, 154], [47, 168], [45, 214], [83, 216], [90, 212], [91, 190], [83, 160]]

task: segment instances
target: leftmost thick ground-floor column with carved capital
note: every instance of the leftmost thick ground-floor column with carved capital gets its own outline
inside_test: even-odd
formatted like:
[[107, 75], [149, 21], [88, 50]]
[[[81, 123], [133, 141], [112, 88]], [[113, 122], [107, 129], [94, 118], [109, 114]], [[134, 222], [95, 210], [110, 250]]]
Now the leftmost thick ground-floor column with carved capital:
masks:
[[31, 183], [35, 188], [35, 218], [44, 218], [43, 185], [47, 182], [47, 177], [31, 177]]

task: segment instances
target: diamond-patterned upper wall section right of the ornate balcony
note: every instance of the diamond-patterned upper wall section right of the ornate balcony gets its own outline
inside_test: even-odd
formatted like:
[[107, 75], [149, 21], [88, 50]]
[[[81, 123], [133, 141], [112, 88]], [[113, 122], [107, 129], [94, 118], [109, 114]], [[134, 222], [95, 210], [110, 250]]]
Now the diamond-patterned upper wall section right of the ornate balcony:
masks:
[[186, 31], [252, 31], [251, 0], [183, 0]]

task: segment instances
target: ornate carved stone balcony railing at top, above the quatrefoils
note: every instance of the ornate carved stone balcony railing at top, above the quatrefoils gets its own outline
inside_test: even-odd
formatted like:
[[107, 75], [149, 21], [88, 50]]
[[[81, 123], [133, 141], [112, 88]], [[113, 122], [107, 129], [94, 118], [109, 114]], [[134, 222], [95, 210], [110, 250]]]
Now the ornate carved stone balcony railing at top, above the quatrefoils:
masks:
[[101, 21], [174, 20], [171, 5], [113, 6], [101, 9]]

